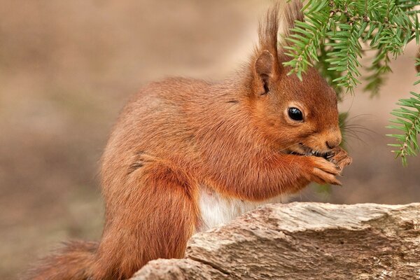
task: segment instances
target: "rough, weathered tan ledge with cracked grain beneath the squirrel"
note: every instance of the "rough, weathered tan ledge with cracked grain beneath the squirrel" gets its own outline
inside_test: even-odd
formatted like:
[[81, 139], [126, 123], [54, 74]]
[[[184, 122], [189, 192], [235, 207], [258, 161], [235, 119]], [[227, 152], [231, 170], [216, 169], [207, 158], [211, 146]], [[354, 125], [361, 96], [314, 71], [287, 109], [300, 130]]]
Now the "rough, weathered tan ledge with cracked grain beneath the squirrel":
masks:
[[134, 279], [420, 279], [420, 204], [268, 204]]

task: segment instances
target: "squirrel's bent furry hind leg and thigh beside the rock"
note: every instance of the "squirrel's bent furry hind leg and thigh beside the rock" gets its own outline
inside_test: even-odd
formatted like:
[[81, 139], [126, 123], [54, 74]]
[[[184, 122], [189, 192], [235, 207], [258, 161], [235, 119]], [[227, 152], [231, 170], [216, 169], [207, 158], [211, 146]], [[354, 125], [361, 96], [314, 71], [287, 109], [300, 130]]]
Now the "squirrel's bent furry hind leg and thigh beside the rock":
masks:
[[152, 162], [135, 173], [118, 201], [107, 205], [110, 218], [97, 251], [94, 280], [128, 279], [149, 260], [183, 258], [195, 232], [195, 186], [180, 170]]

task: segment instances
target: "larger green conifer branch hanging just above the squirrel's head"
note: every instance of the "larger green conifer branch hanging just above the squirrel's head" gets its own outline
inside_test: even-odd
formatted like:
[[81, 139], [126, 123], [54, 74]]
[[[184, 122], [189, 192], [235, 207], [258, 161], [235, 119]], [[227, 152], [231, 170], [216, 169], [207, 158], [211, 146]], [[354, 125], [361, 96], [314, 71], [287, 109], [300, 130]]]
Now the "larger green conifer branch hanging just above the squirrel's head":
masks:
[[[288, 38], [293, 43], [287, 47], [291, 60], [284, 64], [291, 67], [289, 74], [299, 78], [315, 65], [334, 87], [353, 92], [359, 83], [363, 41], [380, 51], [368, 68], [365, 87], [378, 94], [391, 71], [389, 56], [398, 57], [414, 38], [420, 42], [419, 6], [416, 0], [309, 0], [304, 6], [305, 22], [295, 22], [294, 34]], [[325, 59], [325, 53], [328, 62], [320, 59]]]

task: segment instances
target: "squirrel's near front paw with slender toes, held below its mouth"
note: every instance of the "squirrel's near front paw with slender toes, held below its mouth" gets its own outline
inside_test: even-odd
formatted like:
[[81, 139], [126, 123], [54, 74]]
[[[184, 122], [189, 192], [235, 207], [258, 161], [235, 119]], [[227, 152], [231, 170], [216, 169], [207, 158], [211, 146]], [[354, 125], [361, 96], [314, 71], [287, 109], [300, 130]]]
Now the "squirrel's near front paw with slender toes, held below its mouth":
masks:
[[319, 184], [328, 183], [342, 186], [342, 183], [335, 178], [341, 172], [337, 164], [325, 160], [325, 158], [314, 156], [307, 157], [307, 159], [311, 166], [309, 169], [309, 181], [314, 181]]

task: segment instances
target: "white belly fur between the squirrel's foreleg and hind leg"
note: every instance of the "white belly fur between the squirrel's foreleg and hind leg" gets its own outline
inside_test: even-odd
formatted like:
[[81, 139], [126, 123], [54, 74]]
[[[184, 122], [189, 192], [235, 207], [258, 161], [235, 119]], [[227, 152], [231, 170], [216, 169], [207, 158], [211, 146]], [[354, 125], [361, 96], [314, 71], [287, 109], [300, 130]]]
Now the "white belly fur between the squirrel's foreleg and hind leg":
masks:
[[250, 202], [236, 198], [224, 197], [210, 188], [200, 187], [200, 213], [202, 223], [197, 232], [215, 228], [218, 225], [228, 223], [237, 216], [251, 211], [262, 204], [286, 202], [287, 195], [280, 195], [262, 202]]

